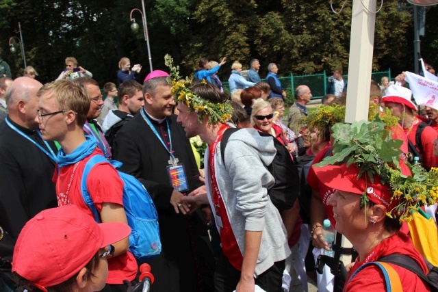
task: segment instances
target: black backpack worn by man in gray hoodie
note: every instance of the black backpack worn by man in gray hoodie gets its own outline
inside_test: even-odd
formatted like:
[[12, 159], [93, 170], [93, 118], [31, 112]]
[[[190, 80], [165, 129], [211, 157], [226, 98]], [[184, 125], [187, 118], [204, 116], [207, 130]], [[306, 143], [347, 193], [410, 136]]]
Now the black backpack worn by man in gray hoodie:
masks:
[[[238, 130], [238, 128], [230, 128], [224, 131], [224, 135], [220, 141], [220, 154], [222, 155], [222, 161], [224, 161], [225, 146], [227, 146], [229, 137]], [[294, 207], [295, 200], [300, 194], [300, 177], [298, 175], [298, 169], [296, 168], [289, 151], [283, 144], [281, 144], [281, 142], [268, 133], [259, 132], [259, 134], [261, 136], [271, 137], [276, 149], [276, 155], [272, 163], [270, 165], [265, 165], [275, 178], [274, 186], [268, 189], [269, 197], [272, 204], [274, 204], [279, 211], [291, 209]]]

